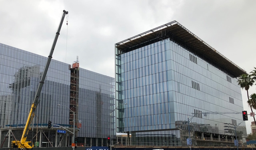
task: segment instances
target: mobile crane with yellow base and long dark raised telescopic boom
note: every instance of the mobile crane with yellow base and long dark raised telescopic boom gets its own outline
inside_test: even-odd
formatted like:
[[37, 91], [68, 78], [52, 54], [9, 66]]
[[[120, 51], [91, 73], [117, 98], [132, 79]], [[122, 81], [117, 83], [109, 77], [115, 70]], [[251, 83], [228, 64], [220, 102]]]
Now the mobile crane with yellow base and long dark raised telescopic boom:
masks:
[[26, 141], [27, 136], [28, 136], [28, 131], [30, 129], [29, 126], [30, 126], [31, 121], [33, 120], [33, 118], [35, 116], [34, 113], [35, 113], [35, 110], [36, 110], [36, 106], [40, 102], [39, 96], [40, 96], [40, 93], [41, 93], [41, 90], [42, 90], [42, 87], [43, 87], [43, 84], [44, 84], [44, 79], [46, 77], [46, 73], [47, 73], [47, 70], [49, 68], [49, 65], [50, 65], [50, 62], [51, 62], [51, 59], [52, 59], [52, 54], [53, 54], [56, 42], [58, 40], [58, 36], [60, 35], [60, 29], [61, 29], [61, 26], [62, 26], [62, 23], [63, 23], [63, 20], [64, 20], [66, 14], [68, 14], [68, 12], [63, 10], [63, 14], [62, 14], [62, 17], [61, 17], [61, 20], [60, 20], [60, 25], [59, 25], [58, 30], [56, 32], [56, 36], [55, 36], [53, 44], [52, 44], [52, 49], [50, 51], [50, 54], [49, 54], [47, 62], [46, 62], [46, 66], [44, 67], [44, 72], [43, 72], [41, 80], [39, 82], [38, 89], [36, 91], [36, 95], [35, 95], [35, 98], [34, 98], [34, 102], [31, 105], [30, 112], [28, 114], [28, 119], [27, 119], [25, 128], [24, 128], [23, 133], [22, 133], [22, 137], [21, 137], [20, 141], [18, 141], [18, 140], [12, 141], [13, 147], [18, 148], [19, 150], [27, 150], [27, 149], [30, 149], [34, 146], [33, 144], [32, 144], [32, 146], [29, 145], [29, 143], [31, 143], [31, 141]]

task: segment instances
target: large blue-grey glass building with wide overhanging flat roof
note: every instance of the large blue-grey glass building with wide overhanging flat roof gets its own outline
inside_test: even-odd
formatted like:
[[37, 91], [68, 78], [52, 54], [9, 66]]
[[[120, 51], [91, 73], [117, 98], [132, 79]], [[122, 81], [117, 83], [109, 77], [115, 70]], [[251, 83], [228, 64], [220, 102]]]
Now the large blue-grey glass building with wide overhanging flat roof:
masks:
[[[233, 144], [246, 137], [246, 73], [176, 21], [116, 43], [116, 100], [127, 103], [118, 132], [135, 145]], [[240, 113], [240, 114], [239, 114]], [[240, 141], [241, 142], [241, 141]]]

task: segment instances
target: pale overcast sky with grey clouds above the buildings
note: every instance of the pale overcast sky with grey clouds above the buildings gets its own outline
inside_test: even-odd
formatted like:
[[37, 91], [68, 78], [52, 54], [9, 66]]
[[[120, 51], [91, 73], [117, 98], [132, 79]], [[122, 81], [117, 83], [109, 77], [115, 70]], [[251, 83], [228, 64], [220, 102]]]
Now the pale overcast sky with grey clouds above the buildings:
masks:
[[[114, 77], [114, 44], [176, 20], [246, 70], [256, 67], [255, 0], [0, 0], [0, 43]], [[256, 93], [256, 86], [249, 94]], [[246, 91], [242, 90], [244, 110]], [[225, 112], [225, 110], [223, 110]], [[242, 114], [241, 114], [242, 117]], [[248, 117], [247, 133], [251, 132]], [[239, 123], [239, 122], [238, 122]]]

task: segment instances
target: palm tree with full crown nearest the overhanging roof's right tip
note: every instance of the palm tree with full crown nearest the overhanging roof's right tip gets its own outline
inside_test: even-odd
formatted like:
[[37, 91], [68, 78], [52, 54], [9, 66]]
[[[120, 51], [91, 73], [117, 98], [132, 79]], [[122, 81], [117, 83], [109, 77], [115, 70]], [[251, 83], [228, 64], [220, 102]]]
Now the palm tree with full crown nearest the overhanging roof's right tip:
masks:
[[[249, 93], [248, 93], [248, 90], [250, 88], [250, 86], [253, 85], [254, 83], [254, 80], [253, 78], [251, 78], [251, 76], [249, 74], [242, 74], [241, 76], [238, 77], [238, 85], [243, 89], [246, 90], [247, 92], [247, 98], [248, 98], [248, 101], [247, 102], [251, 102], [250, 98], [249, 98]], [[248, 103], [249, 104], [249, 103]], [[250, 103], [251, 104], [251, 103]], [[249, 104], [249, 105], [250, 105]], [[253, 104], [254, 105], [254, 104]], [[250, 108], [251, 108], [251, 111], [252, 111], [252, 105], [250, 105]], [[253, 112], [253, 111], [252, 111]], [[256, 124], [256, 121], [255, 121], [255, 117], [253, 117], [254, 119], [254, 123]]]

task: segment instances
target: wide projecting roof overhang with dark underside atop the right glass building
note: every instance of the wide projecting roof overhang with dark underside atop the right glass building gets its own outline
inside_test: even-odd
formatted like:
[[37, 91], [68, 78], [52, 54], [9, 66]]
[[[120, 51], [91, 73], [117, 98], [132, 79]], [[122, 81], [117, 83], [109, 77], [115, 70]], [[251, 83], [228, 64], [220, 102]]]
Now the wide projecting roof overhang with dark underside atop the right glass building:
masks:
[[116, 43], [116, 48], [118, 48], [122, 54], [167, 38], [177, 42], [187, 50], [228, 73], [232, 77], [246, 74], [245, 70], [234, 64], [176, 21], [118, 42]]

